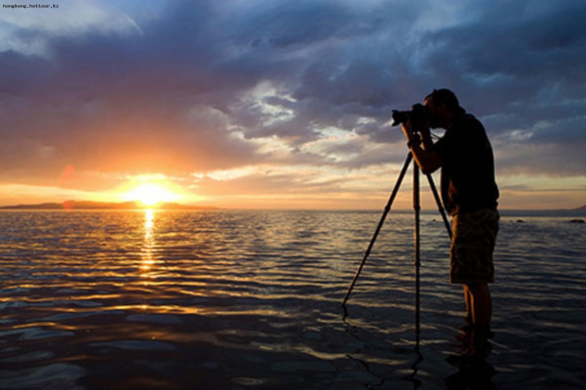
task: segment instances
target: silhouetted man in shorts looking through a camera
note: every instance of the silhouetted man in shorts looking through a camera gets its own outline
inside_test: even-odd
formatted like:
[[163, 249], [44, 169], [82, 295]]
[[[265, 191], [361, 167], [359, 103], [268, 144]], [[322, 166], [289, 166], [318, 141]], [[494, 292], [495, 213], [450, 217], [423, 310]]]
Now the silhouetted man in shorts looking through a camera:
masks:
[[[424, 103], [423, 118], [416, 118], [420, 115], [413, 111], [403, 122], [403, 132], [424, 174], [442, 168], [442, 202], [454, 217], [450, 281], [464, 287], [466, 319], [473, 334], [488, 336], [492, 316], [488, 284], [494, 281], [492, 253], [499, 220], [492, 147], [482, 124], [465, 112], [454, 92], [434, 89]], [[433, 143], [430, 127], [446, 132]]]

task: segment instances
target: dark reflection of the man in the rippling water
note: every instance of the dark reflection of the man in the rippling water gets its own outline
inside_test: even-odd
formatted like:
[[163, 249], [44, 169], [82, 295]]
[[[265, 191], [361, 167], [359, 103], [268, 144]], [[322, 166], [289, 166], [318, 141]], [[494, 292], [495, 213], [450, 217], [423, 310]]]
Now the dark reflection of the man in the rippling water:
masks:
[[449, 390], [496, 389], [492, 383], [496, 370], [486, 361], [492, 349], [490, 339], [493, 333], [479, 333], [470, 326], [464, 326], [461, 328], [461, 333], [455, 337], [461, 346], [461, 351], [449, 356], [447, 361], [458, 368], [458, 372], [445, 379], [446, 388]]

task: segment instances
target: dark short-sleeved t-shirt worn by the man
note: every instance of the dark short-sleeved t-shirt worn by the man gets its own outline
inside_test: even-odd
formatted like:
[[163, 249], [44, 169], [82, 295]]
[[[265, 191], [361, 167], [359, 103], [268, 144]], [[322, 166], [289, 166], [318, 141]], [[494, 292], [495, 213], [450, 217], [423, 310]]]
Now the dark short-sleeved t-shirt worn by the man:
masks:
[[458, 116], [433, 150], [443, 161], [441, 195], [450, 215], [496, 208], [495, 159], [478, 119], [470, 114]]

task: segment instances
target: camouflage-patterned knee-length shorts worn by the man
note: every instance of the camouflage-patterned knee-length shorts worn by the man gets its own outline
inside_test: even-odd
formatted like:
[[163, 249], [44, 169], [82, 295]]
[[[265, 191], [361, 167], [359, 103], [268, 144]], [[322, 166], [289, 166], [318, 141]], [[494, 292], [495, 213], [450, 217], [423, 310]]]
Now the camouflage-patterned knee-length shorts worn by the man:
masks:
[[452, 283], [492, 283], [495, 268], [492, 252], [499, 231], [499, 212], [495, 209], [461, 212], [454, 216], [449, 256], [449, 281]]

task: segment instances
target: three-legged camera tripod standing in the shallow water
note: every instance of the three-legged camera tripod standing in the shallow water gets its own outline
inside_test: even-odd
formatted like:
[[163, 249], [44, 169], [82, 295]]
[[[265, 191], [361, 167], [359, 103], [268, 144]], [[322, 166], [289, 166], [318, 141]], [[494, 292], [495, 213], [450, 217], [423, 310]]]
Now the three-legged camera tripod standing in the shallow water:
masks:
[[[405, 174], [407, 172], [407, 168], [409, 167], [409, 164], [411, 163], [412, 160], [413, 160], [413, 153], [411, 153], [411, 151], [410, 151], [407, 154], [407, 158], [405, 160], [405, 163], [403, 164], [403, 168], [401, 169], [399, 177], [397, 178], [397, 182], [395, 184], [395, 187], [393, 188], [393, 192], [391, 193], [391, 196], [389, 198], [389, 202], [387, 202], [387, 205], [384, 208], [384, 212], [380, 218], [379, 225], [376, 227], [376, 230], [374, 231], [374, 235], [373, 235], [372, 239], [370, 240], [370, 244], [368, 246], [368, 249], [366, 249], [366, 252], [364, 253], [364, 257], [362, 258], [362, 262], [360, 263], [358, 270], [356, 271], [356, 275], [355, 275], [354, 279], [352, 279], [352, 283], [350, 283], [350, 287], [348, 288], [348, 291], [346, 292], [346, 296], [344, 297], [344, 301], [342, 302], [342, 307], [344, 309], [344, 317], [347, 316], [346, 301], [350, 297], [350, 294], [352, 293], [352, 289], [354, 288], [354, 285], [356, 284], [356, 281], [358, 280], [358, 277], [360, 276], [360, 271], [362, 271], [362, 267], [364, 267], [364, 263], [366, 263], [366, 259], [370, 255], [370, 251], [372, 250], [372, 247], [374, 246], [374, 241], [376, 241], [377, 237], [379, 236], [380, 229], [381, 229], [381, 227], [383, 227], [384, 219], [387, 217], [387, 214], [389, 213], [389, 211], [391, 209], [391, 205], [393, 205], [393, 201], [395, 200], [395, 197], [397, 196], [397, 192], [399, 191], [399, 188], [401, 187], [401, 182], [403, 181], [403, 178], [405, 177]], [[419, 225], [420, 225], [420, 218], [419, 217], [420, 217], [421, 204], [420, 204], [420, 189], [419, 189], [419, 172], [420, 172], [420, 169], [419, 169], [418, 165], [413, 164], [413, 210], [415, 213], [415, 232], [414, 232], [414, 234], [415, 234], [415, 334], [417, 334], [417, 340], [419, 340], [419, 334], [420, 334], [420, 327], [419, 327], [419, 323], [420, 323], [420, 321], [419, 321], [419, 311], [420, 311], [419, 310], [419, 308], [420, 308], [420, 295], [419, 295], [419, 285], [420, 285], [420, 280], [419, 280], [419, 268], [420, 268], [419, 237], [420, 237], [420, 229], [419, 229]], [[442, 219], [444, 220], [444, 225], [445, 225], [446, 229], [448, 230], [449, 237], [451, 238], [452, 237], [452, 229], [449, 226], [448, 218], [445, 215], [444, 206], [442, 206], [442, 203], [440, 201], [440, 196], [438, 195], [438, 191], [435, 188], [433, 178], [431, 177], [431, 174], [427, 174], [426, 176], [427, 176], [427, 180], [430, 184], [431, 191], [434, 195], [435, 203], [437, 203], [438, 210], [440, 211]]]

